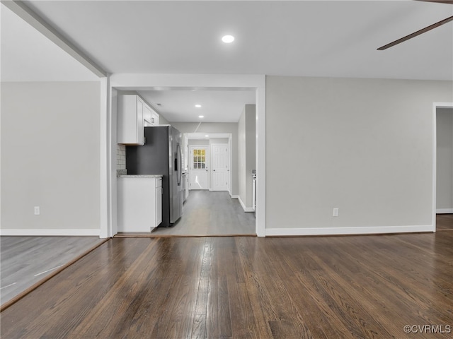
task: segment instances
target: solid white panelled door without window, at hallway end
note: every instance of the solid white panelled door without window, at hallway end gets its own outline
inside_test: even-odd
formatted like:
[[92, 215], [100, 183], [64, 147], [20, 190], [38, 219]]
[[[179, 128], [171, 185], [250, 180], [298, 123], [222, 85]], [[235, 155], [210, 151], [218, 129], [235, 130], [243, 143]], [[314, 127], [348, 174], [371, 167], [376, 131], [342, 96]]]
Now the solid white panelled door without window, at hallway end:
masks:
[[212, 191], [229, 190], [228, 144], [212, 144]]

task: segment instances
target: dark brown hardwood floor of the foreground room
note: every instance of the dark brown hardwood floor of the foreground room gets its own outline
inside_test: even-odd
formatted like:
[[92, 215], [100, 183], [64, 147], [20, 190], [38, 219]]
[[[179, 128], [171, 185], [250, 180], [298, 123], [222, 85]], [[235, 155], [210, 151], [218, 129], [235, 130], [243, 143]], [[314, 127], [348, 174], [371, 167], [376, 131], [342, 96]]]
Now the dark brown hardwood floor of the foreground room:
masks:
[[1, 338], [452, 338], [452, 244], [113, 238], [1, 312]]

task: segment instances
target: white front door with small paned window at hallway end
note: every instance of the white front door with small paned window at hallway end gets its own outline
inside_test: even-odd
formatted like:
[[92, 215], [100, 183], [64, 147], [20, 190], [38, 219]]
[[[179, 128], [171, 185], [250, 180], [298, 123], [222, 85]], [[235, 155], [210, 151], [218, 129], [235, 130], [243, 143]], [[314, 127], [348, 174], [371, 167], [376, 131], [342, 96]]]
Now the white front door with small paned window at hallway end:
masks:
[[190, 146], [190, 189], [209, 189], [209, 146]]

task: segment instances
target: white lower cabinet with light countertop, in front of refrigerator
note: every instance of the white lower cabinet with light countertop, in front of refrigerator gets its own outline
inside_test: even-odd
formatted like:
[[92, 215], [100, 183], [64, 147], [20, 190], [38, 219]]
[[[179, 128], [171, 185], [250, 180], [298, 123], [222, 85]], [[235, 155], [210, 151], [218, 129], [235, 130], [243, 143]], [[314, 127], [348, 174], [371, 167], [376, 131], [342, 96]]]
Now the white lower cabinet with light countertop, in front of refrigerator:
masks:
[[117, 178], [118, 232], [151, 232], [162, 222], [162, 177]]

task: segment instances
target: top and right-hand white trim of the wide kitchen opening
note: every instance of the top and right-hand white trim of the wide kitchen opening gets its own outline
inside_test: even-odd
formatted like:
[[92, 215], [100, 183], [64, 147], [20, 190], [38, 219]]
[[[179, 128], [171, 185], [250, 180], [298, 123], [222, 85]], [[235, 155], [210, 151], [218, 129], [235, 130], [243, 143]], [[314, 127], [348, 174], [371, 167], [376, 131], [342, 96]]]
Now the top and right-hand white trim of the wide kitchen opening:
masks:
[[[217, 88], [256, 90], [256, 234], [265, 237], [265, 75], [262, 74], [133, 74], [110, 76], [111, 88], [151, 90], [155, 88]], [[116, 140], [116, 131], [111, 131]], [[231, 167], [230, 167], [231, 168]], [[116, 168], [114, 168], [116, 170]], [[112, 169], [113, 172], [113, 169]], [[230, 171], [230, 173], [232, 170]], [[113, 192], [110, 191], [110, 199]], [[112, 215], [116, 208], [112, 205]]]

